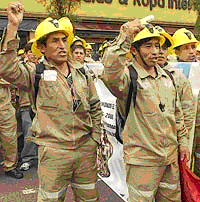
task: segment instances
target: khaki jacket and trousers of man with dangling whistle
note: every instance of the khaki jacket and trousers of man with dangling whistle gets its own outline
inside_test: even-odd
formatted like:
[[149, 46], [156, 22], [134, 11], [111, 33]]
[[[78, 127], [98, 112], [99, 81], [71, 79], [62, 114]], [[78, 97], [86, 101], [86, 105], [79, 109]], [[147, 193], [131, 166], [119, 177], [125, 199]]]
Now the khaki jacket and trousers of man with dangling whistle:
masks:
[[[130, 82], [124, 70], [125, 55], [131, 43], [121, 30], [102, 60], [103, 80], [117, 97], [122, 114]], [[155, 67], [155, 78], [136, 62], [133, 67], [138, 73], [136, 106], [131, 103], [122, 133], [129, 201], [181, 201], [178, 145], [188, 145], [188, 131], [179, 97], [161, 67]], [[160, 103], [164, 105], [163, 112]]]

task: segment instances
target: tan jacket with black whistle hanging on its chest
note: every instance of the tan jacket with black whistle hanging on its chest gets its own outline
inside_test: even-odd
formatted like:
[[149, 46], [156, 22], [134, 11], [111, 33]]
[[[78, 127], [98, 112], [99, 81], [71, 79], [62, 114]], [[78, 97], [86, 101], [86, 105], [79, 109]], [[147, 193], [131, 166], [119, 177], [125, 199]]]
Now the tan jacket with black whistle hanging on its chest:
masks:
[[[124, 114], [130, 82], [124, 64], [130, 46], [131, 40], [120, 32], [102, 60], [105, 67], [103, 80], [118, 97]], [[168, 165], [177, 160], [178, 144], [188, 145], [188, 131], [184, 126], [180, 101], [176, 102], [176, 90], [162, 68], [155, 67], [156, 78], [138, 64], [134, 68], [138, 72], [137, 98], [135, 108], [131, 103], [122, 134], [125, 162], [144, 166]], [[165, 104], [164, 112], [159, 108], [160, 101]]]

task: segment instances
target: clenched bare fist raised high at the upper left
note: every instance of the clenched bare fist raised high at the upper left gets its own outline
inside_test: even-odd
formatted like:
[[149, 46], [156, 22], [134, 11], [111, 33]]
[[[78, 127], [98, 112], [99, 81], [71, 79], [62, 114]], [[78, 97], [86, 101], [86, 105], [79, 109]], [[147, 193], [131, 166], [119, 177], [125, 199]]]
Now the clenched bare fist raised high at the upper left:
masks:
[[8, 22], [13, 26], [19, 26], [23, 19], [24, 5], [20, 2], [10, 2], [7, 8]]

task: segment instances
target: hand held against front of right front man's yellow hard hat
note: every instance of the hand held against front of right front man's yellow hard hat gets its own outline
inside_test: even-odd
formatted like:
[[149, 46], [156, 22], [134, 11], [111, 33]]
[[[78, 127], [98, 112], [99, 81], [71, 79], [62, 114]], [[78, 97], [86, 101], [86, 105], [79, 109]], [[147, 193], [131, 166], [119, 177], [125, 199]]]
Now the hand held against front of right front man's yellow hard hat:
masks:
[[129, 37], [134, 38], [140, 31], [144, 29], [145, 25], [139, 19], [127, 22], [121, 26], [121, 30], [126, 32]]

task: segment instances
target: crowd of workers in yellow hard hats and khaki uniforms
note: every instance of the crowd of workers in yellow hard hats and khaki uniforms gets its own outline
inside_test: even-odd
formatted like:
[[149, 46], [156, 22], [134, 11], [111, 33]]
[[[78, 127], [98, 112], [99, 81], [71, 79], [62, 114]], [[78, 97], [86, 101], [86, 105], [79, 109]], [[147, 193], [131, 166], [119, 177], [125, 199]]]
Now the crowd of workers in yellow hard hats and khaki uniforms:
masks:
[[[69, 184], [76, 201], [99, 201], [97, 147], [101, 146], [101, 103], [95, 79], [117, 97], [125, 116], [131, 69], [137, 72], [136, 103], [122, 132], [129, 201], [181, 201], [178, 159], [191, 158], [200, 177], [200, 95], [172, 62], [199, 62], [195, 35], [173, 36], [139, 19], [121, 26], [114, 41], [93, 48], [74, 36], [66, 17], [47, 18], [34, 39], [18, 49], [24, 7], [11, 2], [0, 51], [0, 140], [5, 174], [23, 178], [38, 164], [38, 201], [64, 201]], [[87, 63], [102, 63], [97, 75]], [[200, 65], [199, 65], [200, 67]], [[193, 158], [193, 156], [192, 156]]]

